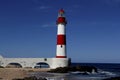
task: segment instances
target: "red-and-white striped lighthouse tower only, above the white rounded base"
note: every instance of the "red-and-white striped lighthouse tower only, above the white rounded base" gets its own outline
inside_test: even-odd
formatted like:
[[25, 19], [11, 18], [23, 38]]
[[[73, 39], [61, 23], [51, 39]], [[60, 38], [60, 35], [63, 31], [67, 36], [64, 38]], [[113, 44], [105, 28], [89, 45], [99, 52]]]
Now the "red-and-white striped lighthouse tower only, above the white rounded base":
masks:
[[56, 58], [67, 58], [66, 56], [66, 18], [63, 9], [59, 10], [57, 19], [57, 49]]

